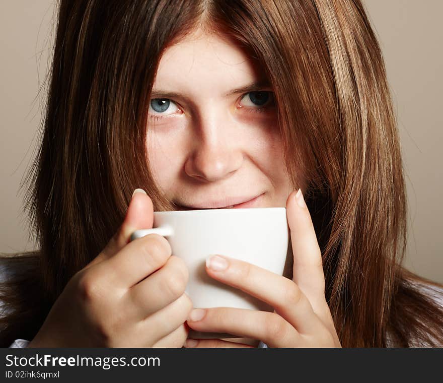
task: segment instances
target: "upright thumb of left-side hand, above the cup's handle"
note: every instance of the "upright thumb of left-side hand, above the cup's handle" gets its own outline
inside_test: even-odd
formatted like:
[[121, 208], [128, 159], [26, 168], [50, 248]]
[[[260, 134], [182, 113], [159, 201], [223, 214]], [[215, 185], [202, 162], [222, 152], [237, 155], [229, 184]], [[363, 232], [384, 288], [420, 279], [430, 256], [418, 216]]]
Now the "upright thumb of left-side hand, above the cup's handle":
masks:
[[109, 240], [100, 254], [87, 267], [109, 259], [129, 242], [137, 229], [151, 229], [154, 222], [154, 208], [151, 198], [143, 189], [135, 189], [123, 223]]

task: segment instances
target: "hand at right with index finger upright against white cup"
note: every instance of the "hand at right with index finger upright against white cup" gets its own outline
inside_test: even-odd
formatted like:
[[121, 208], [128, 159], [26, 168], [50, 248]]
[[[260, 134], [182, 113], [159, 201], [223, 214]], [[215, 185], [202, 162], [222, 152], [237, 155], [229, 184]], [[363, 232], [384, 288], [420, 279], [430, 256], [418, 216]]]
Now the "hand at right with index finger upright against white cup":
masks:
[[[196, 331], [229, 333], [261, 340], [269, 347], [340, 347], [325, 298], [322, 257], [302, 192], [286, 202], [293, 253], [293, 280], [228, 257], [206, 262], [217, 281], [268, 303], [274, 312], [229, 307], [194, 309], [188, 325]], [[250, 347], [223, 340], [188, 340], [187, 347]]]

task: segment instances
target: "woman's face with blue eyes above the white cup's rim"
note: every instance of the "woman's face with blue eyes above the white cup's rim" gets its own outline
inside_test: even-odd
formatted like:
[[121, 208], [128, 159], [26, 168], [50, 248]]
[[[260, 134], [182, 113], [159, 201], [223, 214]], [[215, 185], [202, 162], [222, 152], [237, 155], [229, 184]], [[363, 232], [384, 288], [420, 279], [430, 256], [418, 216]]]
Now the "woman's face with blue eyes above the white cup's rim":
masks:
[[284, 207], [293, 189], [264, 74], [233, 42], [201, 31], [161, 58], [147, 153], [181, 209]]

